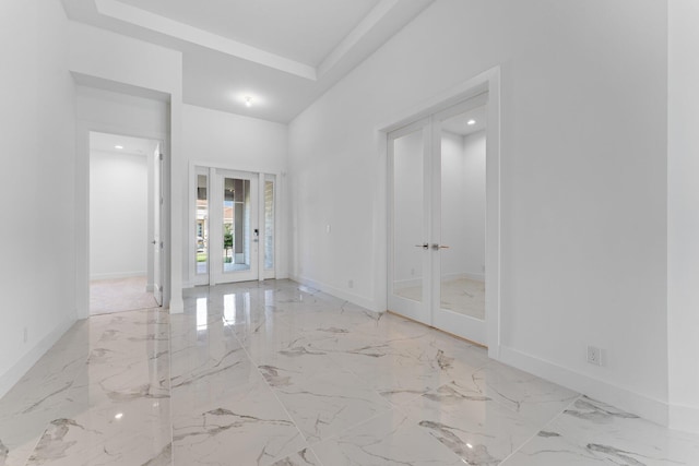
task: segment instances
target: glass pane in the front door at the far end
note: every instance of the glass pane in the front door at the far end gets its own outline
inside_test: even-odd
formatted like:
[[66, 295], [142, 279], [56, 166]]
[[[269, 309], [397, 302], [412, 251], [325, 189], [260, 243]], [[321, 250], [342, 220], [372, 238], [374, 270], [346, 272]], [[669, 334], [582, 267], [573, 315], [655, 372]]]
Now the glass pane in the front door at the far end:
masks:
[[250, 270], [250, 180], [224, 178], [223, 272]]

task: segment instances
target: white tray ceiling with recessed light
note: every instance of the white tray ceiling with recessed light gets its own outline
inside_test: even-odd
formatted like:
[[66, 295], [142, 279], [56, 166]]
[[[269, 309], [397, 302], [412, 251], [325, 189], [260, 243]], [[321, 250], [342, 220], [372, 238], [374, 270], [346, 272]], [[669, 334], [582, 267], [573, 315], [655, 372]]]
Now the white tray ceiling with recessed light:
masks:
[[285, 123], [433, 1], [62, 3], [73, 21], [180, 50], [186, 104]]

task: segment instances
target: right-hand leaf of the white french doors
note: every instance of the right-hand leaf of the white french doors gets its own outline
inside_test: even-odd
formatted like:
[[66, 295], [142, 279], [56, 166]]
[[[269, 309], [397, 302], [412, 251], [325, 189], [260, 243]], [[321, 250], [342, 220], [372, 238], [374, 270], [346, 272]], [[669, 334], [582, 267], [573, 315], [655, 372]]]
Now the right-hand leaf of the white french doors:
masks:
[[486, 100], [433, 117], [433, 325], [485, 345]]

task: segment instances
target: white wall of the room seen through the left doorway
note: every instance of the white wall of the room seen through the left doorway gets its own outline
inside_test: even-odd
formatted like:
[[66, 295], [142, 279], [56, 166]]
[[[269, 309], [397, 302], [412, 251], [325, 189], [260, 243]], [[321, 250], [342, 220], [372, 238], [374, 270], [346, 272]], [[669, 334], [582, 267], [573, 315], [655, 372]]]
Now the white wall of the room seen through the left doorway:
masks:
[[147, 184], [145, 155], [91, 152], [91, 279], [146, 275]]

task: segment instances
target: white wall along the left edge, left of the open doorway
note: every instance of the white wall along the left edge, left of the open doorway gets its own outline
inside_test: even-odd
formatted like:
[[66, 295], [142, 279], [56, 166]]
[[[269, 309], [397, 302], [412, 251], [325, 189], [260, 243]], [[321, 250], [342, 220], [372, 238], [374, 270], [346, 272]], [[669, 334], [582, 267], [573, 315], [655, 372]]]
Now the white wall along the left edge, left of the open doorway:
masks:
[[0, 396], [75, 320], [67, 26], [58, 0], [0, 2]]

